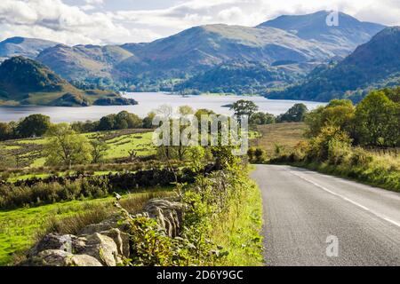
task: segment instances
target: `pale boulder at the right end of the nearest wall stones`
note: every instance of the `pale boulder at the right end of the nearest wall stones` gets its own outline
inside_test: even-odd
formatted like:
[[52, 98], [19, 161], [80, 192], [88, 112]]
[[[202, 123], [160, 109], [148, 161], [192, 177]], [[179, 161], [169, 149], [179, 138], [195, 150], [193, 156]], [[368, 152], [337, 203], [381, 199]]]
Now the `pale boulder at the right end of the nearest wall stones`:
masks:
[[93, 256], [106, 266], [116, 266], [120, 262], [116, 243], [100, 233], [93, 233], [87, 237], [83, 254]]

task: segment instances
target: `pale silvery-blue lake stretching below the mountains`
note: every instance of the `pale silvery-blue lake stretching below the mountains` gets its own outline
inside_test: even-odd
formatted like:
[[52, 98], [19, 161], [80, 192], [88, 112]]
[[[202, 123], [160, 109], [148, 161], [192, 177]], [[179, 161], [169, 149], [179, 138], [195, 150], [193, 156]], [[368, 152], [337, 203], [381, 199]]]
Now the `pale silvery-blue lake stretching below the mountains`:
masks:
[[99, 120], [107, 114], [116, 114], [126, 110], [140, 117], [146, 116], [158, 106], [170, 105], [192, 106], [194, 109], [208, 108], [217, 114], [232, 114], [228, 107], [239, 99], [252, 100], [260, 111], [270, 114], [284, 114], [296, 103], [304, 103], [308, 109], [315, 109], [317, 106], [324, 106], [325, 103], [296, 101], [296, 100], [273, 100], [263, 97], [243, 97], [243, 96], [188, 96], [182, 98], [178, 95], [171, 95], [161, 92], [140, 92], [126, 93], [124, 97], [136, 99], [137, 106], [87, 106], [87, 107], [60, 107], [60, 106], [0, 106], [0, 122], [18, 121], [20, 118], [29, 114], [45, 114], [51, 117], [52, 122], [77, 122], [86, 120]]

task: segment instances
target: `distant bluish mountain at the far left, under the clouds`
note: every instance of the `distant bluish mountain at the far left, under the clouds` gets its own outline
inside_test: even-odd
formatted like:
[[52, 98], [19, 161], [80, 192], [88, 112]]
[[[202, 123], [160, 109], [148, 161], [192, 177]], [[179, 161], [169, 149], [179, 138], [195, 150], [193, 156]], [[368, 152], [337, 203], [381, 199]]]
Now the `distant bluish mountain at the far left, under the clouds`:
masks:
[[27, 37], [11, 37], [0, 42], [0, 58], [11, 58], [13, 56], [23, 56], [35, 59], [36, 56], [45, 49], [59, 43], [46, 41], [43, 39]]

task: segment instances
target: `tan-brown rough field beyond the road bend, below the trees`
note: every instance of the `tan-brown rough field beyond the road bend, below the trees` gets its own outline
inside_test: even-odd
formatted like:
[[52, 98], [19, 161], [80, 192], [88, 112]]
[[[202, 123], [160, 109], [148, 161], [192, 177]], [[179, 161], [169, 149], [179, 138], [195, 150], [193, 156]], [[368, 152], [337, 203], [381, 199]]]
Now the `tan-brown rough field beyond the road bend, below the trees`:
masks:
[[251, 146], [260, 146], [267, 151], [268, 156], [275, 154], [276, 146], [282, 146], [285, 151], [292, 151], [300, 142], [305, 141], [303, 133], [307, 125], [303, 122], [275, 123], [259, 125], [260, 138], [252, 140]]

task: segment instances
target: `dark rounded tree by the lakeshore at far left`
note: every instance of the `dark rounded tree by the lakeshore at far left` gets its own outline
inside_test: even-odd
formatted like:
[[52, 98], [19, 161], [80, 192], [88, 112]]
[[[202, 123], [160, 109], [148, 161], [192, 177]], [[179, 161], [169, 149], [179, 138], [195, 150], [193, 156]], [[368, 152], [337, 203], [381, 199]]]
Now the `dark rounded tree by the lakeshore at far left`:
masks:
[[50, 128], [50, 117], [43, 114], [31, 114], [18, 124], [20, 138], [40, 137]]

